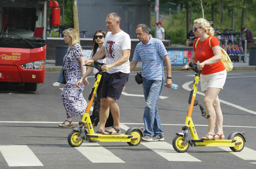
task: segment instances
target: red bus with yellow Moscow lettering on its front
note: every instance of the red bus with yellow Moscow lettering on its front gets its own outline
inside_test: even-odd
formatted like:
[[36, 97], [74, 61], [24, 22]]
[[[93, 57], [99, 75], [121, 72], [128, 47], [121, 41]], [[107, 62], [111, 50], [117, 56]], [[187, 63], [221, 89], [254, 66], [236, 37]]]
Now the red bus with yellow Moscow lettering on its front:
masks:
[[44, 83], [48, 7], [59, 26], [56, 1], [0, 0], [0, 82], [24, 83], [27, 91]]

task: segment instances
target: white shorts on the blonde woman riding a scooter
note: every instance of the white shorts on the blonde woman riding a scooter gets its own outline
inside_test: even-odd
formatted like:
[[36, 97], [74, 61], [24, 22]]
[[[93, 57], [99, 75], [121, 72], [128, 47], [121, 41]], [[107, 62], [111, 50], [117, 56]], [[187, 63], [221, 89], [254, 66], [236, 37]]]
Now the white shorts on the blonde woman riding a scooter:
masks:
[[227, 71], [225, 69], [221, 72], [212, 73], [209, 75], [200, 75], [200, 77], [200, 85], [202, 91], [205, 91], [207, 87], [223, 89], [227, 77]]

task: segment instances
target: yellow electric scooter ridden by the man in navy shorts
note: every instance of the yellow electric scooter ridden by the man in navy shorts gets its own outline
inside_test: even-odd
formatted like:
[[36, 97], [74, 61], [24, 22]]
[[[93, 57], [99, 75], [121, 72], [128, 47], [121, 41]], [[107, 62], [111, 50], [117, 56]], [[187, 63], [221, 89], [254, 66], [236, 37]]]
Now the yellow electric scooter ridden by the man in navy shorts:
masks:
[[[93, 131], [89, 112], [103, 73], [101, 70], [102, 65], [102, 63], [99, 63], [97, 61], [94, 61], [94, 63], [89, 65], [84, 65], [94, 67], [98, 69], [99, 72], [97, 77], [95, 78], [94, 86], [91, 88], [85, 113], [82, 117], [82, 120], [78, 123], [78, 126], [82, 125], [82, 128], [73, 128], [73, 131], [70, 132], [67, 137], [68, 144], [72, 147], [78, 147], [82, 144], [83, 140], [86, 140], [89, 142], [127, 142], [131, 146], [138, 145], [141, 142], [142, 137], [144, 137], [144, 133], [142, 132], [143, 128], [131, 127], [126, 131], [125, 134], [119, 135], [103, 135], [99, 133], [94, 133]], [[87, 126], [88, 132], [85, 130], [85, 125]]]

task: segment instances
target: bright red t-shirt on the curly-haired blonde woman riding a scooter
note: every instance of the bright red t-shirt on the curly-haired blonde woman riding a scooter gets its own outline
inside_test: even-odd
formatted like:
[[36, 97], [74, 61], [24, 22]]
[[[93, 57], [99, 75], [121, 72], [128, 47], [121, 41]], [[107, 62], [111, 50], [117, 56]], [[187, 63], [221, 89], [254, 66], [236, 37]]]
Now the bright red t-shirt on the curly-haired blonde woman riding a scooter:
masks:
[[[198, 60], [200, 63], [203, 61], [210, 59], [211, 57], [214, 56], [212, 48], [214, 46], [219, 46], [219, 41], [216, 37], [211, 38], [211, 47], [209, 45], [209, 39], [212, 36], [208, 36], [204, 41], [200, 42], [200, 40], [196, 44], [195, 48], [195, 43], [197, 39], [195, 39], [194, 44], [193, 44], [193, 52], [195, 52], [195, 59]], [[225, 70], [225, 66], [221, 61], [218, 61], [214, 64], [211, 65], [204, 65], [201, 74], [202, 75], [208, 75], [212, 73], [217, 73]]]

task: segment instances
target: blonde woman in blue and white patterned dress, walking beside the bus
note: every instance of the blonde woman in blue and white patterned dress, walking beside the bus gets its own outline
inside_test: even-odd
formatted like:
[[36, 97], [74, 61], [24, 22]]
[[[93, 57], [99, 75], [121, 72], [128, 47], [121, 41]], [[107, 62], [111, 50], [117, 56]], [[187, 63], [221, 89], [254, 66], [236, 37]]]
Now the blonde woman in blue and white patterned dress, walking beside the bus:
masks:
[[84, 85], [88, 85], [89, 83], [87, 79], [84, 79], [83, 84], [81, 84], [80, 87], [76, 86], [77, 81], [86, 72], [86, 67], [83, 66], [85, 57], [82, 47], [78, 44], [79, 39], [77, 32], [73, 28], [68, 28], [63, 31], [63, 34], [65, 43], [69, 45], [67, 53], [63, 59], [65, 79], [67, 83], [61, 93], [67, 118], [62, 124], [59, 124], [58, 126], [67, 127], [73, 126], [73, 117], [80, 116], [82, 118], [87, 106], [87, 102], [83, 98], [82, 91]]

